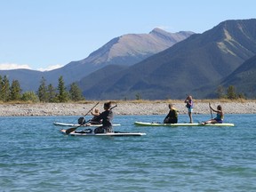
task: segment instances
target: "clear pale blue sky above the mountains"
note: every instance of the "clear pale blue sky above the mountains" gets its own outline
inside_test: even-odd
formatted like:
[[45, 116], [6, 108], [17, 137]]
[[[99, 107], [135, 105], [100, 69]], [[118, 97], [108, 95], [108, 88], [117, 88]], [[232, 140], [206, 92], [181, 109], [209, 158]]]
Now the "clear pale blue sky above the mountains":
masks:
[[154, 28], [203, 33], [256, 18], [255, 0], [0, 0], [0, 69], [59, 68], [116, 36]]

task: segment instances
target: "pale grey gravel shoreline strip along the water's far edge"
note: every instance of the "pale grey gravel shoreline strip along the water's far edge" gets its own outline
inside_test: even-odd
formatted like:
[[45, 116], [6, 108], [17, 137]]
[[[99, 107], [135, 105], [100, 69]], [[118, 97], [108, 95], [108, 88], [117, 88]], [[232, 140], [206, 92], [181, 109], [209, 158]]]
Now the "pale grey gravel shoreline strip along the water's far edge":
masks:
[[[0, 116], [84, 116], [97, 102], [90, 103], [36, 103], [36, 104], [0, 104]], [[97, 108], [102, 111], [104, 101]], [[115, 115], [163, 115], [169, 111], [168, 101], [129, 102], [116, 101]], [[188, 110], [182, 101], [173, 101], [179, 114]], [[195, 102], [194, 114], [210, 114], [209, 103]], [[225, 114], [255, 114], [256, 101], [212, 102], [212, 108], [221, 105]]]

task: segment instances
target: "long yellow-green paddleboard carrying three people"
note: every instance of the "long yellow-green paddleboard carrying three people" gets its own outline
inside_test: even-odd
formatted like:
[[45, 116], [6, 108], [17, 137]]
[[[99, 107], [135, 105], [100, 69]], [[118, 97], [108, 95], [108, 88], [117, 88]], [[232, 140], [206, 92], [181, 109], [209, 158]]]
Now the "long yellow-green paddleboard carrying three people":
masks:
[[146, 123], [146, 122], [134, 122], [135, 125], [137, 126], [235, 126], [235, 124], [228, 124], [228, 123], [223, 123], [223, 124], [162, 124], [162, 123]]

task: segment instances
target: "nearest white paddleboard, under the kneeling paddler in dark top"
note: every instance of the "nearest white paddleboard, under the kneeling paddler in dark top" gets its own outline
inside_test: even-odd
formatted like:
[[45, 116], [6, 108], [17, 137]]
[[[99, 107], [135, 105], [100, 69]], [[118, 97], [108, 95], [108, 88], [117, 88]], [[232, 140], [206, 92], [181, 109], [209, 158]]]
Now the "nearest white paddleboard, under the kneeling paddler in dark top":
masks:
[[65, 129], [60, 130], [61, 133], [71, 136], [142, 136], [145, 132], [108, 132], [108, 133], [94, 133], [94, 132], [70, 132], [66, 133]]

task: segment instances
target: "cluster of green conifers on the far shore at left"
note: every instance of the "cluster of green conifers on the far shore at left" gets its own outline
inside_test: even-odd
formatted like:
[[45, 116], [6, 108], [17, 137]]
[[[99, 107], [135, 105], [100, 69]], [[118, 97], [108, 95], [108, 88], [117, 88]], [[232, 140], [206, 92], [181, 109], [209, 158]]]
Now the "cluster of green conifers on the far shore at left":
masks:
[[7, 76], [0, 76], [0, 100], [8, 101], [31, 101], [31, 102], [68, 102], [84, 100], [81, 89], [77, 84], [70, 85], [69, 91], [65, 87], [63, 76], [59, 77], [58, 87], [46, 84], [44, 76], [41, 79], [37, 92], [23, 92], [18, 80], [12, 80], [10, 84]]

